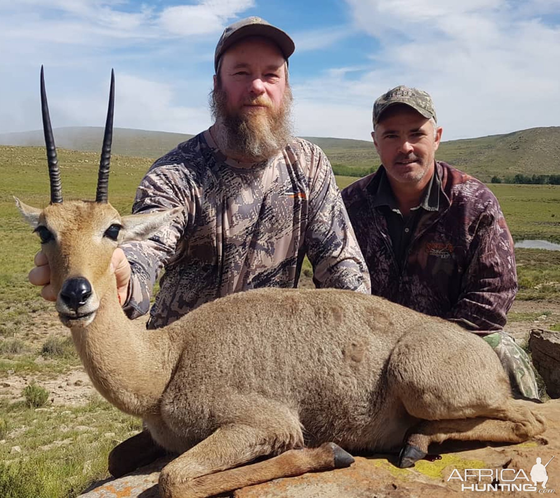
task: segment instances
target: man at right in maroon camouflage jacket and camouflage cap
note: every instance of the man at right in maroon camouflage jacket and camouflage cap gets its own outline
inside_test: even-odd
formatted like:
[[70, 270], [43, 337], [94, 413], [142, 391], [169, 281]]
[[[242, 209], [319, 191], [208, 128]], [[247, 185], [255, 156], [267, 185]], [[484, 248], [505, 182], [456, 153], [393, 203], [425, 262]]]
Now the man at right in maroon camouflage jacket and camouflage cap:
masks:
[[517, 292], [514, 243], [480, 181], [435, 160], [442, 128], [430, 95], [398, 86], [375, 101], [381, 166], [342, 196], [374, 294], [486, 339], [517, 396], [538, 399], [530, 360], [503, 331]]

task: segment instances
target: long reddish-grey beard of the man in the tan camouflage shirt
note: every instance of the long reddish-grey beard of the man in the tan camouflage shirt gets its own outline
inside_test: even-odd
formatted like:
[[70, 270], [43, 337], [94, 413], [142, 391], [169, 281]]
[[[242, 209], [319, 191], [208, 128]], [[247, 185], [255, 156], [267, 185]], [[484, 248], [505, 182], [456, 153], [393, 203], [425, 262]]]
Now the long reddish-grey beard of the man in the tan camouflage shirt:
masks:
[[255, 162], [268, 160], [286, 147], [292, 137], [291, 89], [286, 86], [282, 104], [276, 110], [262, 95], [246, 101], [246, 104], [264, 105], [266, 109], [230, 110], [226, 91], [221, 87], [212, 91], [212, 116], [222, 125], [218, 145]]

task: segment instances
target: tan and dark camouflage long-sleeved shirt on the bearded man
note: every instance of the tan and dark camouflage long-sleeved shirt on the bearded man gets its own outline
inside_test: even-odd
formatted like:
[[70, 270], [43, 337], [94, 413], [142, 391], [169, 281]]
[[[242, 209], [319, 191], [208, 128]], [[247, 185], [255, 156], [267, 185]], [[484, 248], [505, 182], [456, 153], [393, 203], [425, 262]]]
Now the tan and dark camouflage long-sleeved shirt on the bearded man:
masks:
[[158, 159], [138, 187], [134, 213], [181, 206], [183, 217], [149, 240], [123, 244], [132, 267], [130, 318], [174, 322], [204, 302], [257, 287], [296, 287], [305, 254], [317, 287], [370, 292], [370, 279], [323, 151], [294, 138], [274, 159], [227, 158], [209, 131]]

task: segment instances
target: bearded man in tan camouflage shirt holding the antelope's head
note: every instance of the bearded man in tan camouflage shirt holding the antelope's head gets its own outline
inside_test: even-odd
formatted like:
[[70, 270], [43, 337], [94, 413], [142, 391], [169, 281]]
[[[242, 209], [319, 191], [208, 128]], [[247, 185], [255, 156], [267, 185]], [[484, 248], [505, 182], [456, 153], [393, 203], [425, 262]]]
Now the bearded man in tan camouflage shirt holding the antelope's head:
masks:
[[[138, 187], [134, 213], [176, 206], [183, 217], [113, 257], [119, 298], [148, 328], [204, 302], [256, 287], [296, 287], [304, 256], [316, 287], [370, 292], [328, 159], [292, 137], [288, 57], [295, 45], [259, 17], [228, 26], [214, 54], [214, 124], [158, 159]], [[30, 281], [54, 299], [42, 253]], [[235, 310], [232, 310], [235, 313]]]

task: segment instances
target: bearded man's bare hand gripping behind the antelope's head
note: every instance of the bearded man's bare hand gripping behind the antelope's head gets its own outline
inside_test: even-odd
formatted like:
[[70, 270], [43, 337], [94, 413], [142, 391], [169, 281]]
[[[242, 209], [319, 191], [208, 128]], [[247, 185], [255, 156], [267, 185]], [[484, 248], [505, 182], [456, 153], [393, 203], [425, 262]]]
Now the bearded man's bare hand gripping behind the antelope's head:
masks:
[[[111, 258], [111, 272], [115, 273], [116, 289], [119, 293], [119, 301], [124, 304], [128, 297], [128, 282], [130, 281], [130, 264], [120, 248], [116, 248]], [[49, 262], [43, 251], [35, 255], [35, 268], [29, 272], [29, 281], [33, 285], [42, 285], [41, 296], [47, 301], [56, 301], [57, 295], [53, 286], [50, 285]]]

